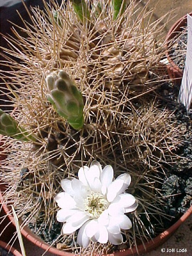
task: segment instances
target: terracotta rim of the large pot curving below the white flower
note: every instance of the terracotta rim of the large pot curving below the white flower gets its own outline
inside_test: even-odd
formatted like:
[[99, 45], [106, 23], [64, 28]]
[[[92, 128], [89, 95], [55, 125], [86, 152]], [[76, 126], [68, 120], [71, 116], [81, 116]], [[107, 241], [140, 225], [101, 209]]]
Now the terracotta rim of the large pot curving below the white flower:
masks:
[[[0, 158], [1, 160], [1, 158]], [[7, 214], [7, 217], [11, 220], [11, 222], [15, 225], [14, 222], [14, 218], [12, 216], [11, 213], [11, 207], [7, 207], [5, 203], [3, 203], [3, 197], [2, 197], [2, 193], [5, 190], [5, 187], [3, 187], [2, 185], [0, 185], [0, 202], [2, 203], [3, 209], [5, 211], [5, 213]], [[108, 254], [106, 256], [128, 256], [128, 255], [138, 255], [143, 253], [143, 252], [149, 252], [154, 250], [156, 247], [158, 247], [159, 245], [163, 244], [165, 241], [167, 241], [169, 239], [169, 237], [175, 233], [175, 231], [177, 230], [177, 228], [191, 215], [192, 213], [192, 206], [190, 207], [190, 209], [187, 210], [187, 212], [185, 214], [182, 215], [182, 217], [174, 224], [172, 225], [169, 229], [167, 229], [166, 231], [164, 231], [163, 233], [161, 233], [160, 235], [158, 235], [156, 238], [154, 238], [153, 240], [146, 242], [145, 243], [145, 247], [141, 244], [139, 246], [137, 246], [137, 249], [135, 247], [133, 247], [132, 249], [124, 249], [121, 251], [116, 251], [114, 253]], [[41, 247], [43, 250], [47, 250], [50, 253], [53, 253], [55, 255], [60, 255], [60, 256], [73, 256], [74, 254], [70, 253], [70, 252], [66, 252], [66, 251], [61, 251], [58, 250], [54, 247], [49, 247], [49, 244], [47, 244], [46, 242], [44, 242], [43, 240], [41, 240], [38, 236], [36, 236], [34, 233], [32, 233], [32, 231], [25, 226], [22, 230], [21, 230], [22, 235], [28, 239], [29, 241], [31, 241], [34, 245]]]

